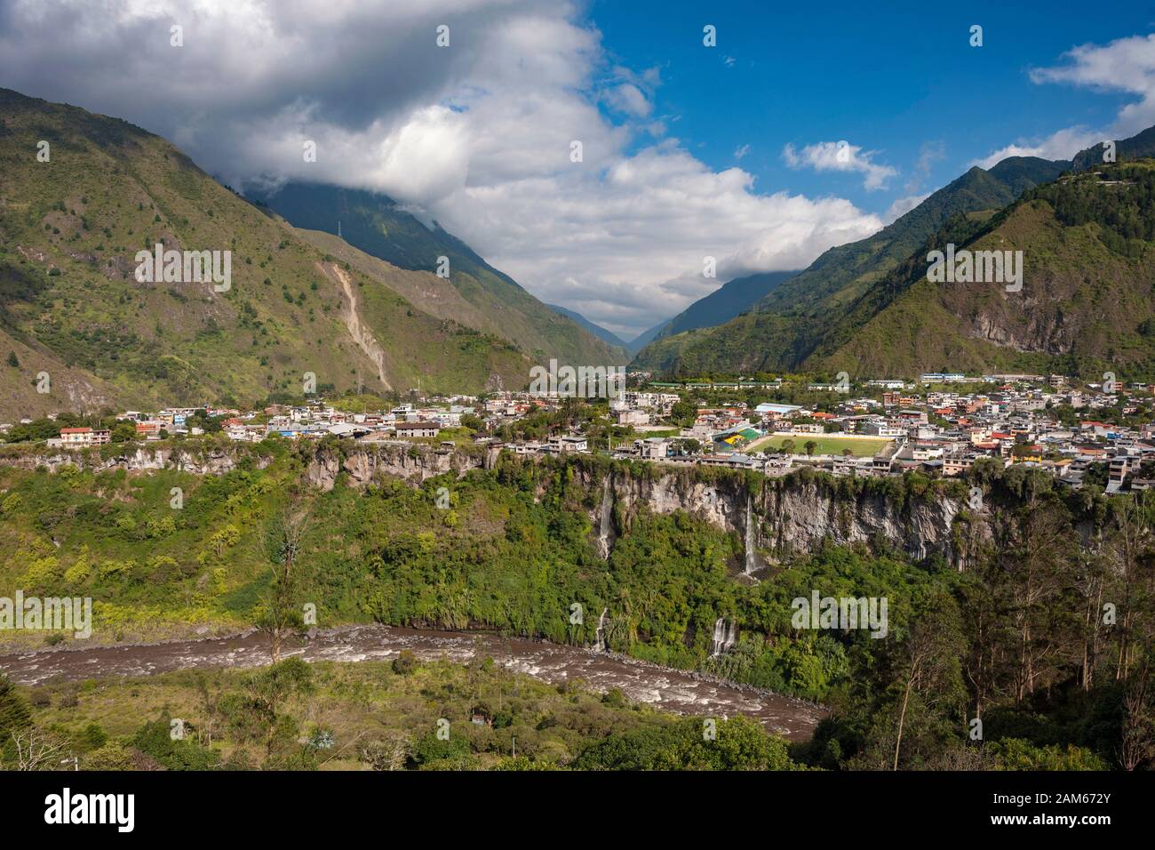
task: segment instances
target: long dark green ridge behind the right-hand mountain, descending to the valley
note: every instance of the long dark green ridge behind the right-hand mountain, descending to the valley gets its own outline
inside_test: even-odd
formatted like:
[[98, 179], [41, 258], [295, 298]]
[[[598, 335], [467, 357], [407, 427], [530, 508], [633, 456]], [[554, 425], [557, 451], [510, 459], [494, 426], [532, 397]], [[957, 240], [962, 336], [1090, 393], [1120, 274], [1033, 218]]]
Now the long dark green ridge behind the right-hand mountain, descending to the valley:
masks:
[[840, 316], [949, 219], [1000, 209], [1070, 167], [1012, 157], [990, 171], [971, 168], [873, 236], [826, 251], [750, 312], [716, 327], [657, 339], [638, 354], [633, 367], [684, 375], [796, 369]]

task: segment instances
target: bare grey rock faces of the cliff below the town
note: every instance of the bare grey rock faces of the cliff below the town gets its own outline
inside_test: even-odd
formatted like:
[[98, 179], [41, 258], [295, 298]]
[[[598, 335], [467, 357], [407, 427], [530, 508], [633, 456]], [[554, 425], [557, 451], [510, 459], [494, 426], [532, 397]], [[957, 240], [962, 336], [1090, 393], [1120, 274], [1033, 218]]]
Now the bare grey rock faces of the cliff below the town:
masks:
[[[499, 456], [493, 449], [469, 453], [392, 443], [301, 445], [298, 451], [305, 460], [306, 480], [322, 490], [331, 490], [342, 473], [353, 487], [388, 478], [419, 486], [425, 479], [447, 472], [460, 476], [470, 470], [493, 468]], [[73, 464], [94, 471], [174, 468], [195, 475], [221, 475], [253, 454], [248, 446], [196, 450], [132, 446], [104, 458], [96, 450], [59, 451], [3, 456], [0, 464], [28, 470], [44, 466], [53, 472]], [[270, 458], [255, 454], [253, 463], [263, 468]], [[746, 561], [746, 571], [751, 574], [766, 562], [808, 552], [824, 541], [841, 545], [886, 540], [915, 559], [937, 553], [956, 567], [966, 566], [967, 553], [960, 550], [964, 548], [960, 546], [964, 535], [956, 531], [964, 503], [933, 489], [926, 496], [900, 501], [869, 488], [857, 488], [854, 495], [848, 495], [820, 478], [766, 479], [752, 486], [740, 475], [711, 479], [691, 468], [657, 466], [650, 472], [641, 475], [624, 466], [597, 471], [593, 465], [579, 464], [576, 479], [587, 494], [590, 523], [603, 557], [609, 556], [621, 526], [638, 512], [686, 511], [738, 534], [745, 547], [753, 549]], [[538, 496], [544, 487], [543, 480]], [[971, 529], [990, 538], [985, 513], [970, 515]]]

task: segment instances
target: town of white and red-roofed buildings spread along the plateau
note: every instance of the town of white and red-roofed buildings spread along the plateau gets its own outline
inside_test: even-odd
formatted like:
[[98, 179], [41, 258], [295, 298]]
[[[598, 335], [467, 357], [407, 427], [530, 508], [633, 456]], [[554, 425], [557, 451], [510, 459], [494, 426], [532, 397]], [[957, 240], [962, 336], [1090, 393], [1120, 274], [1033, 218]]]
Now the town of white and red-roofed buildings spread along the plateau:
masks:
[[[1058, 375], [936, 372], [851, 384], [806, 377], [664, 383], [627, 376], [610, 398], [504, 391], [386, 404], [375, 397], [307, 398], [260, 409], [171, 407], [114, 416], [0, 423], [9, 443], [80, 449], [221, 434], [230, 441], [335, 437], [362, 443], [461, 443], [517, 454], [583, 452], [784, 475], [918, 471], [962, 475], [976, 460], [1026, 464], [1073, 489], [1108, 493], [1155, 483], [1155, 386], [1110, 374], [1085, 384]], [[760, 400], [773, 398], [774, 400]], [[787, 404], [783, 400], [789, 399]], [[72, 421], [77, 420], [77, 421]]]

